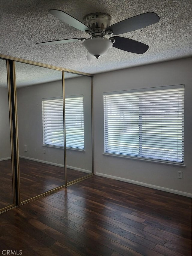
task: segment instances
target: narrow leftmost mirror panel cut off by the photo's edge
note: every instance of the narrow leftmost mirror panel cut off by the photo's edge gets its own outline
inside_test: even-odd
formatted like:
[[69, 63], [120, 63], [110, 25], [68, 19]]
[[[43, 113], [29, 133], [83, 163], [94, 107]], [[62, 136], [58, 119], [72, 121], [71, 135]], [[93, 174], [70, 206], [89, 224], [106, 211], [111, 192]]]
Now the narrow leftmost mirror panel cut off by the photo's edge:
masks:
[[10, 116], [6, 60], [0, 59], [0, 209], [13, 205]]

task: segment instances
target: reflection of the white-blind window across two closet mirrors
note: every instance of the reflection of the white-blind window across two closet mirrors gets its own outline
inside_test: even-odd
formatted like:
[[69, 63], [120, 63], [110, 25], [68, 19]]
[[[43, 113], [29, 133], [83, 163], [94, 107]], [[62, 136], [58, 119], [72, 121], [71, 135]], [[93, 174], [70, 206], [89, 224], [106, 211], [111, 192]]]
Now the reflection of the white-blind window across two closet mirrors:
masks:
[[[50, 98], [42, 101], [43, 144], [64, 146], [63, 100]], [[66, 147], [84, 149], [83, 95], [65, 98]]]

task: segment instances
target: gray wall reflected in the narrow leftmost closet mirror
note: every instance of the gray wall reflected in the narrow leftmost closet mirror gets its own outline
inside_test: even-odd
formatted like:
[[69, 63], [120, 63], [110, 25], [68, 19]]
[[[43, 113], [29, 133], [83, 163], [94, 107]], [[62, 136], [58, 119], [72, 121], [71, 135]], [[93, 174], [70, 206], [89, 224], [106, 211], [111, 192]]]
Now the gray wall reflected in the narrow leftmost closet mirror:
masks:
[[0, 161], [11, 158], [8, 89], [0, 87]]

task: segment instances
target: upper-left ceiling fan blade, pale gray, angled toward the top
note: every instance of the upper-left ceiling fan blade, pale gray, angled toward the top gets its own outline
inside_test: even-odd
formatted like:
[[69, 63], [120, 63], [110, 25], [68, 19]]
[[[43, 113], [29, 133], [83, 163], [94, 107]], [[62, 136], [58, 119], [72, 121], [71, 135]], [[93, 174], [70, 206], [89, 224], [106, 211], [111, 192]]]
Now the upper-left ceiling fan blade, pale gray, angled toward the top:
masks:
[[85, 30], [89, 30], [89, 31], [93, 32], [89, 27], [85, 26], [85, 24], [83, 24], [79, 20], [76, 20], [75, 18], [73, 18], [69, 14], [65, 13], [64, 11], [49, 10], [49, 12], [50, 12], [50, 14], [52, 14], [53, 16], [58, 18], [59, 20], [62, 20], [63, 22], [67, 23], [68, 25], [70, 25], [70, 26], [72, 26], [76, 29], [79, 29], [83, 32]]

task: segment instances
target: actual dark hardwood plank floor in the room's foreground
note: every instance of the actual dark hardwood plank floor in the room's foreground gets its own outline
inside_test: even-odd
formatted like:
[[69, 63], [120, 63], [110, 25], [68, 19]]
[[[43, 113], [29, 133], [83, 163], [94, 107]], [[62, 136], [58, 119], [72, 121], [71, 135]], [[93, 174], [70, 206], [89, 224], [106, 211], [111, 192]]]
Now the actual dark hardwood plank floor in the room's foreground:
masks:
[[190, 198], [95, 175], [1, 213], [0, 226], [0, 252], [191, 255]]

